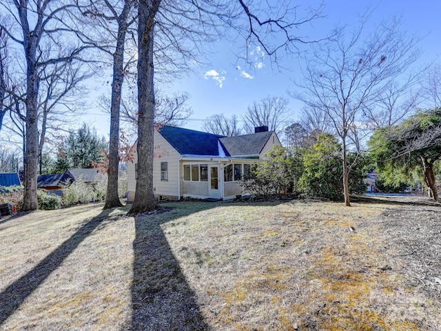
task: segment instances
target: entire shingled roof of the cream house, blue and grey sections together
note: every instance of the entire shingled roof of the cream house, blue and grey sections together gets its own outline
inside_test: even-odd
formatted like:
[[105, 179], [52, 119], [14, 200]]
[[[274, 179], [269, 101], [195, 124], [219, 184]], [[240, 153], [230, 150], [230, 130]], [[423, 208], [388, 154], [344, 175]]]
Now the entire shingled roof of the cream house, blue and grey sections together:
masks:
[[[256, 157], [273, 134], [271, 131], [224, 137], [174, 126], [163, 126], [158, 131], [179, 154], [207, 157]], [[219, 154], [219, 148], [225, 155]]]

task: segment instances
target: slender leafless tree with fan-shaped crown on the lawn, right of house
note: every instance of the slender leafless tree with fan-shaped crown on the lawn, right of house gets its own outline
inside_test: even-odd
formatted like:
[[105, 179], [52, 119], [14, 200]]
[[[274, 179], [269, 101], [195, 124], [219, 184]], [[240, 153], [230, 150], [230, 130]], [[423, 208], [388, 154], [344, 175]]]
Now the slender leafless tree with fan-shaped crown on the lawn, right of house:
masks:
[[369, 12], [358, 28], [349, 33], [337, 28], [334, 38], [316, 45], [306, 61], [304, 77], [292, 93], [311, 108], [325, 112], [342, 142], [345, 204], [349, 200], [347, 152], [353, 143], [360, 148], [367, 128], [363, 111], [375, 108], [382, 92], [418, 58], [418, 38], [401, 31], [400, 17], [382, 22], [367, 34]]

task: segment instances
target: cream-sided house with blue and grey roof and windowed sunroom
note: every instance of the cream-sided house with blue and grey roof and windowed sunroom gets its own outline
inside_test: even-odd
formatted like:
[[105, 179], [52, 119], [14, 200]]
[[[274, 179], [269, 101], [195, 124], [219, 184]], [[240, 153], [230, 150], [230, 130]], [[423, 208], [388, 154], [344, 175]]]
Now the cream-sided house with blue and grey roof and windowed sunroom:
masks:
[[[256, 128], [256, 131], [262, 128]], [[173, 126], [154, 132], [156, 199], [232, 199], [244, 194], [240, 179], [274, 145], [275, 132], [223, 137]], [[138, 171], [136, 146], [127, 163], [127, 200], [133, 201]]]

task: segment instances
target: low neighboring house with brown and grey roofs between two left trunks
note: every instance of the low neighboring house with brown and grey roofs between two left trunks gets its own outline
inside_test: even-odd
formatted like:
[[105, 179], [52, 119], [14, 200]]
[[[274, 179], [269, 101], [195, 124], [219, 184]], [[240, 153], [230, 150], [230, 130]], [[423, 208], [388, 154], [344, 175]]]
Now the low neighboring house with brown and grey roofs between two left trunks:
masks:
[[63, 188], [78, 180], [88, 185], [96, 185], [105, 180], [105, 175], [99, 169], [68, 169], [65, 174], [40, 174], [37, 188], [61, 197]]

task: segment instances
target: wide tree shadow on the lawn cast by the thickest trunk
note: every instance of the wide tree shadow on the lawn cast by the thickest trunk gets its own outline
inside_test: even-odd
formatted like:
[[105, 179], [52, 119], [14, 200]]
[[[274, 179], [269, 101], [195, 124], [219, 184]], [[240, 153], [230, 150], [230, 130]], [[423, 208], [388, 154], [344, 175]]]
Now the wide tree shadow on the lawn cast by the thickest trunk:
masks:
[[[216, 208], [200, 203], [199, 210]], [[210, 330], [198, 301], [174, 257], [161, 224], [199, 210], [135, 217], [132, 330]]]

